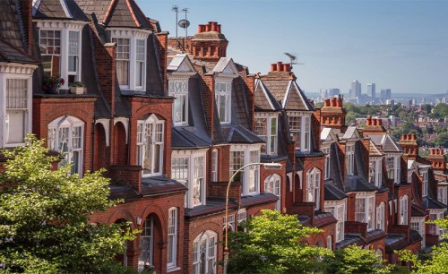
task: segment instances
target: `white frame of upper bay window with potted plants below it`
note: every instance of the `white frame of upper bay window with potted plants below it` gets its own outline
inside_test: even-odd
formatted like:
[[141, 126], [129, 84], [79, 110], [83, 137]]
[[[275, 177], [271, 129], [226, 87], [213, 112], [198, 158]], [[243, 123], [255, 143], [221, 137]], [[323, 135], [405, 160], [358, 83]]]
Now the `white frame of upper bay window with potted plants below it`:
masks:
[[[82, 81], [82, 28], [86, 25], [86, 22], [80, 21], [37, 21], [37, 27], [39, 28], [39, 47], [42, 30], [60, 31], [60, 53], [59, 54], [41, 54], [41, 56], [59, 56], [59, 73], [61, 78], [65, 80], [61, 89], [69, 89], [69, 76], [74, 75], [74, 81]], [[69, 54], [70, 49], [70, 31], [79, 32], [78, 54]], [[69, 72], [69, 56], [78, 56], [78, 72]]]

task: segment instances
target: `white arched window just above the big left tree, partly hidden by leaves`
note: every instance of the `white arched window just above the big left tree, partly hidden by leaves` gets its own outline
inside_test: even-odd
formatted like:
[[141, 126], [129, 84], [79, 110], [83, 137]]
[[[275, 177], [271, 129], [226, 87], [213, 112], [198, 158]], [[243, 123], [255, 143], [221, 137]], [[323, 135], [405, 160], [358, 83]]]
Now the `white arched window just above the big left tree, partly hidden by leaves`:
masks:
[[72, 164], [72, 174], [82, 175], [84, 122], [73, 116], [62, 116], [48, 124], [48, 148], [64, 153], [59, 165]]

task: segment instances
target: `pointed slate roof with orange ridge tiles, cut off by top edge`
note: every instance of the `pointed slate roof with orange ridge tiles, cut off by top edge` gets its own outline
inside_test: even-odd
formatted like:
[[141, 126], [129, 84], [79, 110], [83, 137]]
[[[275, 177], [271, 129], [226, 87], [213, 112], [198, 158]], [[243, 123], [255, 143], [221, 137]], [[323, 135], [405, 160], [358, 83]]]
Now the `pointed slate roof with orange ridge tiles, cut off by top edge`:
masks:
[[153, 30], [153, 25], [134, 0], [77, 0], [86, 14], [95, 13], [99, 22], [108, 27]]

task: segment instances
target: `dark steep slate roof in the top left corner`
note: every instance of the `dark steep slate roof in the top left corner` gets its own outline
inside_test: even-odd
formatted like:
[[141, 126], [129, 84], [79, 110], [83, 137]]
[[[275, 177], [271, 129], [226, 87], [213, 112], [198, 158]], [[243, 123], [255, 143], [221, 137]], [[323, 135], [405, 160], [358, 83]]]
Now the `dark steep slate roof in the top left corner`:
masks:
[[28, 55], [20, 5], [14, 0], [0, 1], [0, 62], [39, 64]]

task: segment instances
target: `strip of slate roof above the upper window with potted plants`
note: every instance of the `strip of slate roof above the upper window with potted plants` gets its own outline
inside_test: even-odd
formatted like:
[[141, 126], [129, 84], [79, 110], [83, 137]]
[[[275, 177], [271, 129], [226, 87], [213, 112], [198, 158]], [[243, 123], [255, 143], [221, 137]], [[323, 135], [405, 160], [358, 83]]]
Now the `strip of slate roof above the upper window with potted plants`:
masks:
[[33, 6], [33, 18], [88, 21], [74, 0], [39, 0]]

